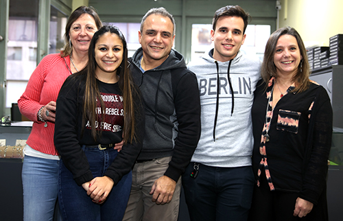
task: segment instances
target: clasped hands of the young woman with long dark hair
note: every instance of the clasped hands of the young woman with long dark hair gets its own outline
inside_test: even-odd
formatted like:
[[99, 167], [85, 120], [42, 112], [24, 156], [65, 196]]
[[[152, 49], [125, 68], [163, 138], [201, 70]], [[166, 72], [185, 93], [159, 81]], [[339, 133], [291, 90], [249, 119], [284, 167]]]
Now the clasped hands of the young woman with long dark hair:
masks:
[[[84, 184], [82, 184], [82, 187]], [[102, 204], [102, 202], [106, 200], [108, 194], [110, 194], [114, 184], [115, 182], [113, 182], [113, 180], [108, 176], [93, 178], [93, 180], [88, 184], [87, 195], [91, 197], [93, 202]]]

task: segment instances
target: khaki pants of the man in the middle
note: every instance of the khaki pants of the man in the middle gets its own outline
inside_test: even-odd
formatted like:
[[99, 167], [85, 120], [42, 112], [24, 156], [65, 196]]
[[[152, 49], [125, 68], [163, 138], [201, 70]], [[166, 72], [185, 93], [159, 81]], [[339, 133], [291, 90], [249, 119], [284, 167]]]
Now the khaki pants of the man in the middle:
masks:
[[132, 170], [132, 187], [123, 221], [177, 221], [180, 203], [181, 178], [176, 184], [171, 202], [156, 205], [150, 191], [154, 181], [163, 176], [171, 156], [136, 163]]

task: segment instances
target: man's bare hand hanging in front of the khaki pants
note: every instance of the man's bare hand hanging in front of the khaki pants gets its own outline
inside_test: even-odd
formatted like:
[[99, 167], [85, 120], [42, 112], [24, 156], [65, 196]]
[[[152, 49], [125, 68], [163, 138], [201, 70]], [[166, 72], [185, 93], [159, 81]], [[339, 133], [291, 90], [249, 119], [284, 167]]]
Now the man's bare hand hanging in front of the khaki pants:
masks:
[[152, 202], [164, 205], [171, 201], [173, 198], [176, 182], [168, 176], [161, 176], [158, 178], [154, 185], [152, 185], [150, 194], [152, 195]]

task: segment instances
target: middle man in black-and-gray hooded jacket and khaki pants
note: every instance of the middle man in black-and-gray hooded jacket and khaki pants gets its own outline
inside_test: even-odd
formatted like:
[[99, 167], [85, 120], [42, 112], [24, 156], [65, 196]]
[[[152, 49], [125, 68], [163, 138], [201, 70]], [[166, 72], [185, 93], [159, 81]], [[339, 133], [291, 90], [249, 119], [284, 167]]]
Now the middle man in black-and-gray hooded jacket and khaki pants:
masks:
[[174, 18], [152, 8], [141, 21], [130, 71], [145, 107], [143, 148], [132, 169], [123, 221], [177, 221], [180, 177], [200, 137], [200, 96], [196, 75], [172, 49]]

